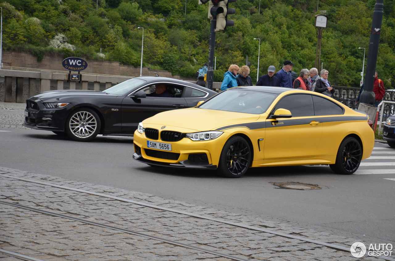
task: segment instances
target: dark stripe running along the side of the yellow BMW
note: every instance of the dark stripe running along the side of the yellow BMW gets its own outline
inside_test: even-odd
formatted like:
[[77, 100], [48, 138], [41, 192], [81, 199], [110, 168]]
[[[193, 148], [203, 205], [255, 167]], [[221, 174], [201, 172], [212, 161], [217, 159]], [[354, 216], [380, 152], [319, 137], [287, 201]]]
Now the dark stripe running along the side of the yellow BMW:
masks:
[[[303, 125], [303, 124], [309, 124], [311, 121], [319, 121], [320, 123], [325, 123], [325, 122], [337, 122], [337, 121], [366, 121], [367, 119], [368, 119], [367, 116], [334, 116], [334, 117], [312, 116], [310, 118], [304, 118], [304, 119], [284, 119], [281, 121], [260, 121], [260, 122], [240, 123], [240, 124], [220, 127], [216, 129], [216, 131], [224, 131], [226, 129], [239, 128], [239, 127], [245, 127], [250, 130], [256, 130], [256, 129], [265, 129], [272, 127], [281, 127], [281, 126]], [[275, 125], [273, 125], [272, 123], [275, 123]]]

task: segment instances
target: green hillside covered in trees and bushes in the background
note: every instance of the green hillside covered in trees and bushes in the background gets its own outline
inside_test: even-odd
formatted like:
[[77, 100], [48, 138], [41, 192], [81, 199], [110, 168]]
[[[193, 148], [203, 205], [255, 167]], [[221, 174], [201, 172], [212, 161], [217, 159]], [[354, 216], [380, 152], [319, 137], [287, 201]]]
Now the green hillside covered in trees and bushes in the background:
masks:
[[[3, 7], [4, 49], [27, 50], [42, 59], [58, 52], [65, 57], [119, 61], [140, 65], [144, 27], [144, 65], [193, 77], [207, 62], [210, 23], [198, 0], [8, 0]], [[369, 46], [375, 0], [320, 0], [329, 17], [322, 40], [322, 62], [335, 85], [359, 86], [363, 50]], [[237, 0], [229, 16], [235, 26], [217, 33], [214, 80], [222, 81], [229, 65], [249, 57], [256, 80], [258, 41], [260, 75], [286, 59], [303, 68], [314, 66], [317, 1]], [[384, 19], [377, 70], [386, 88], [395, 87], [395, 4], [384, 0]], [[102, 52], [100, 52], [100, 49]], [[366, 56], [367, 57], [367, 56]], [[366, 66], [366, 60], [365, 60]], [[366, 69], [366, 68], [365, 68]]]

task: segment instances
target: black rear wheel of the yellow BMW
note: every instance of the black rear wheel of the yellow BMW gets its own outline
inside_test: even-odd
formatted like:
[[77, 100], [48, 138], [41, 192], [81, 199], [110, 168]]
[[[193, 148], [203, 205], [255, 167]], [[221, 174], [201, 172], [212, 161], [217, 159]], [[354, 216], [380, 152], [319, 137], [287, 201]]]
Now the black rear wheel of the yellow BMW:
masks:
[[346, 137], [337, 151], [335, 164], [330, 164], [329, 167], [339, 174], [352, 174], [359, 168], [361, 158], [361, 144], [355, 138]]

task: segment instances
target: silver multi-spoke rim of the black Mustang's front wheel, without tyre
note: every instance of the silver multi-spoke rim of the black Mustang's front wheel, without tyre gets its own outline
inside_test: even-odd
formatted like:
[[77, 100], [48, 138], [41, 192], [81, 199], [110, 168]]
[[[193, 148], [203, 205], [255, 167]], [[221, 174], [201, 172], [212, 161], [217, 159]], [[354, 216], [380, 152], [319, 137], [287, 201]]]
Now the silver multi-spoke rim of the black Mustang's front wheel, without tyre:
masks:
[[76, 112], [70, 118], [70, 131], [78, 138], [88, 138], [97, 128], [96, 117], [86, 111]]

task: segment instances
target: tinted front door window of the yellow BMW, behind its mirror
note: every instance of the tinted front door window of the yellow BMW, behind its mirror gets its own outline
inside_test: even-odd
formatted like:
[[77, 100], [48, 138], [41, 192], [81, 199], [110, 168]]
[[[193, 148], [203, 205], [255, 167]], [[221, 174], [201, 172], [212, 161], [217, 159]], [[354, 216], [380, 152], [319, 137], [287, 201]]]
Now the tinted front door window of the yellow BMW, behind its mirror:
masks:
[[288, 95], [277, 104], [276, 109], [290, 110], [292, 117], [313, 116], [313, 101], [311, 95], [293, 94]]

